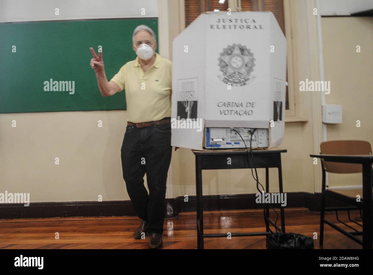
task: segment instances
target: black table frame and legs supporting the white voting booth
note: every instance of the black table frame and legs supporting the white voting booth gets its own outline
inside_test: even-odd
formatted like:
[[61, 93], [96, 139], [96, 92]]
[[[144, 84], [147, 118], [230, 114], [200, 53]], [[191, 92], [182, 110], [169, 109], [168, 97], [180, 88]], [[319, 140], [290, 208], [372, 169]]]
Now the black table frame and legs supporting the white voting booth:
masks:
[[[203, 195], [202, 195], [202, 170], [215, 169], [242, 169], [254, 168], [245, 149], [242, 150], [209, 150], [197, 151], [192, 150], [195, 155], [195, 184], [197, 195], [197, 248], [203, 249], [204, 238], [227, 237], [227, 234], [204, 234], [203, 233]], [[269, 168], [278, 168], [279, 177], [279, 192], [283, 192], [282, 188], [282, 169], [281, 169], [281, 153], [285, 153], [286, 149], [277, 150], [253, 150], [253, 158], [256, 168], [266, 169], [266, 193], [269, 192]], [[231, 164], [227, 164], [227, 158], [231, 158]], [[275, 222], [269, 218], [269, 207], [266, 205], [265, 210], [266, 232], [256, 233], [232, 233], [232, 237], [243, 236], [267, 236], [272, 234], [269, 224], [276, 226], [277, 230], [285, 233], [285, 216], [283, 206], [280, 206], [281, 228], [275, 225]]]

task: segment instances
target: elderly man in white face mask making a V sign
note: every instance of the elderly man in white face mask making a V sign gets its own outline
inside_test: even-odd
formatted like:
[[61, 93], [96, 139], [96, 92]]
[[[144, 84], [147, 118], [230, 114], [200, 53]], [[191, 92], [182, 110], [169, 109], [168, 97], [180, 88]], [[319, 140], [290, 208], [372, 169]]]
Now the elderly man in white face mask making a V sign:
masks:
[[[107, 81], [102, 52], [92, 48], [94, 69], [101, 95], [112, 96], [125, 89], [127, 127], [121, 149], [123, 179], [132, 204], [142, 219], [134, 237], [147, 232], [149, 247], [162, 246], [166, 179], [171, 160], [172, 62], [160, 57], [156, 35], [140, 25], [132, 35], [137, 58], [127, 62]], [[147, 174], [149, 194], [144, 186]]]

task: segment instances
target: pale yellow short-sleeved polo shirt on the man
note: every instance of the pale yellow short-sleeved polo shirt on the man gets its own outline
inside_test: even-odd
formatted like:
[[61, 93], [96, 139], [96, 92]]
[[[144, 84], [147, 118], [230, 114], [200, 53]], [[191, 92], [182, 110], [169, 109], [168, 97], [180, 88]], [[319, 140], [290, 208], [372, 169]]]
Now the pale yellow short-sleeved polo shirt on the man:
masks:
[[110, 81], [125, 89], [127, 121], [141, 123], [171, 117], [172, 62], [156, 53], [144, 72], [138, 61], [127, 62]]

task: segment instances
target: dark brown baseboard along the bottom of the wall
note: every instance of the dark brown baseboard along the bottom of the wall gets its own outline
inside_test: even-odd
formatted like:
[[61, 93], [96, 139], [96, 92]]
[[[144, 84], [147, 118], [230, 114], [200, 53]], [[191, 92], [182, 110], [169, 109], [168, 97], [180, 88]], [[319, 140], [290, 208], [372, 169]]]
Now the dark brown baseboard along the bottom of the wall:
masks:
[[[196, 197], [189, 196], [166, 199], [166, 217], [176, 217], [179, 213], [196, 210]], [[305, 207], [310, 211], [320, 211], [321, 193], [291, 192], [286, 195], [286, 207]], [[203, 196], [203, 209], [238, 210], [259, 209], [262, 204], [255, 202], [255, 194], [240, 195], [206, 195]], [[327, 198], [327, 206], [345, 206], [338, 201]], [[285, 209], [286, 209], [285, 207]], [[93, 217], [93, 216], [137, 216], [131, 201], [73, 201], [0, 204], [0, 219], [50, 218], [50, 217]]]

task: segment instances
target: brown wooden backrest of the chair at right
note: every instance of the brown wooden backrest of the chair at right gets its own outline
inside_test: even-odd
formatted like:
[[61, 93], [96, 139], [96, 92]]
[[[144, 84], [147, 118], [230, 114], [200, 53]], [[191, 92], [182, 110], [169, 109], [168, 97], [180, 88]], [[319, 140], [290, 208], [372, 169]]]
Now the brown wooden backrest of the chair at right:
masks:
[[[331, 140], [320, 144], [321, 154], [330, 155], [369, 155], [370, 143], [365, 140]], [[323, 169], [331, 173], [362, 172], [361, 164], [323, 161]]]

